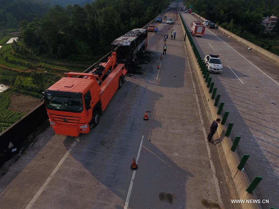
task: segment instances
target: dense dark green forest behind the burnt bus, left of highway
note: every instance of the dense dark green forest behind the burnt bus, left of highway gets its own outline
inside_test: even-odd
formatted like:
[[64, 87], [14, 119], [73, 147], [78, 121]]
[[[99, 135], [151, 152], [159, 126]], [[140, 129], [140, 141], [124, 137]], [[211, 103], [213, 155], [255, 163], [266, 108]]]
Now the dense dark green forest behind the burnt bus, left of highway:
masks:
[[41, 19], [21, 21], [20, 41], [35, 54], [89, 60], [110, 49], [111, 42], [141, 28], [169, 5], [167, 0], [96, 0], [83, 7], [56, 5]]

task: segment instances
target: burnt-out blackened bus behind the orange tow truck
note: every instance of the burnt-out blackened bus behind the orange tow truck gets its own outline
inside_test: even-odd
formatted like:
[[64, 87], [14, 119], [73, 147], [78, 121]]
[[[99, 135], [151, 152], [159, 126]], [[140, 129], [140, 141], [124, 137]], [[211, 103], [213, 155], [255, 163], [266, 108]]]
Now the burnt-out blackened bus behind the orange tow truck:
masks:
[[117, 47], [117, 63], [130, 64], [140, 59], [147, 48], [147, 30], [136, 28], [115, 39], [112, 47]]

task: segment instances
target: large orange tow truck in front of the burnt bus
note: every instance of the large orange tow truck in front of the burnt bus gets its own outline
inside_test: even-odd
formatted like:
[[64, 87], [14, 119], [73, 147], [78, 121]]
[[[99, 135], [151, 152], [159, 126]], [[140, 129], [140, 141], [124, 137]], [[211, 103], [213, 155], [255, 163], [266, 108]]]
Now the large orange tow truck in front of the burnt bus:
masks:
[[98, 125], [100, 115], [125, 81], [124, 64], [116, 64], [116, 52], [108, 62], [89, 73], [69, 72], [44, 91], [51, 127], [56, 134], [75, 136]]

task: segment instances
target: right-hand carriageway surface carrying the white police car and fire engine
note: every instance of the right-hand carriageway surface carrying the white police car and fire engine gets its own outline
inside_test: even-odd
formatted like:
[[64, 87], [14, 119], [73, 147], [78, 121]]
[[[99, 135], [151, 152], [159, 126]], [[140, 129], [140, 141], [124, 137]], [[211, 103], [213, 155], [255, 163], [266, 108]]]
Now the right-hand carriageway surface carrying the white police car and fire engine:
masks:
[[[189, 30], [193, 20], [203, 22], [196, 15], [181, 15]], [[223, 110], [230, 112], [227, 121], [234, 123], [231, 136], [241, 136], [238, 154], [250, 155], [245, 166], [250, 181], [263, 176], [255, 189], [258, 199], [269, 200], [262, 208], [279, 207], [278, 66], [216, 29], [206, 28], [203, 37], [193, 39], [202, 58], [220, 55], [224, 71], [210, 76], [225, 102]]]

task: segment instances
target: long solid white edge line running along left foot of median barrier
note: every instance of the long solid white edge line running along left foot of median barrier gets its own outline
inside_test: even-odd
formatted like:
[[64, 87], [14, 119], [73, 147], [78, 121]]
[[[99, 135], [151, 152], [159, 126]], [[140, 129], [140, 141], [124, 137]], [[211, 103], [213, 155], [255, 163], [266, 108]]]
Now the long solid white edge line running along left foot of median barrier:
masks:
[[[180, 19], [179, 19], [179, 22], [180, 22]], [[181, 30], [181, 34], [183, 34], [181, 27], [180, 27], [180, 30]], [[216, 193], [217, 193], [217, 197], [218, 197], [220, 208], [223, 209], [224, 206], [223, 206], [223, 202], [222, 202], [222, 199], [221, 199], [221, 192], [220, 192], [220, 188], [219, 188], [219, 185], [218, 185], [218, 179], [217, 179], [217, 176], [216, 176], [216, 170], [215, 170], [215, 166], [213, 165], [213, 161], [211, 159], [210, 149], [209, 149], [209, 146], [208, 146], [208, 143], [207, 143], [207, 139], [206, 139], [207, 135], [206, 135], [206, 130], [204, 128], [203, 118], [201, 116], [201, 107], [200, 107], [200, 103], [199, 103], [199, 98], [197, 96], [196, 85], [195, 85], [195, 83], [193, 81], [193, 75], [192, 75], [192, 72], [191, 72], [191, 69], [190, 69], [190, 63], [189, 63], [189, 59], [187, 57], [188, 53], [187, 53], [187, 49], [186, 49], [185, 44], [184, 44], [184, 49], [185, 49], [185, 52], [186, 52], [186, 58], [187, 58], [188, 66], [189, 66], [189, 71], [190, 71], [191, 79], [192, 79], [192, 84], [193, 84], [193, 89], [194, 89], [194, 93], [195, 93], [195, 97], [196, 97], [197, 107], [198, 107], [198, 110], [199, 110], [201, 126], [202, 126], [203, 135], [204, 135], [204, 140], [206, 142], [206, 149], [207, 149], [207, 153], [208, 153], [208, 157], [209, 157], [210, 167], [211, 167], [211, 170], [212, 170], [212, 176], [213, 176], [213, 180], [214, 180], [214, 185], [215, 185], [215, 189], [216, 189]]]

